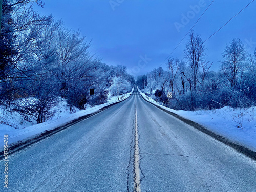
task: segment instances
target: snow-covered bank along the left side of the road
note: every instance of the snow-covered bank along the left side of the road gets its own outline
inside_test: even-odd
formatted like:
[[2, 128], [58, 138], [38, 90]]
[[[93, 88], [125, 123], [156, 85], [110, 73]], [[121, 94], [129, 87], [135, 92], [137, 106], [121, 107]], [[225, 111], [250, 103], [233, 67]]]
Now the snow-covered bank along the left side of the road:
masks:
[[[53, 130], [56, 127], [65, 125], [70, 121], [78, 119], [79, 117], [95, 113], [100, 109], [104, 108], [105, 106], [125, 100], [132, 94], [133, 91], [134, 91], [134, 88], [130, 93], [127, 93], [123, 96], [116, 96], [116, 97], [109, 98], [107, 103], [96, 105], [94, 107], [88, 107], [88, 109], [86, 110], [81, 110], [73, 114], [69, 113], [66, 103], [61, 103], [62, 106], [60, 106], [59, 112], [56, 113], [56, 115], [51, 120], [41, 124], [36, 124], [32, 126], [25, 124], [23, 125], [25, 127], [22, 127], [22, 125], [18, 125], [20, 129], [14, 129], [11, 126], [0, 124], [0, 135], [1, 135], [0, 143], [4, 143], [4, 135], [6, 134], [8, 135], [8, 145], [10, 145], [22, 140], [26, 140], [28, 138], [32, 138], [45, 131]], [[12, 119], [12, 120], [14, 122], [15, 119]], [[0, 150], [3, 150], [2, 146], [0, 147]]]

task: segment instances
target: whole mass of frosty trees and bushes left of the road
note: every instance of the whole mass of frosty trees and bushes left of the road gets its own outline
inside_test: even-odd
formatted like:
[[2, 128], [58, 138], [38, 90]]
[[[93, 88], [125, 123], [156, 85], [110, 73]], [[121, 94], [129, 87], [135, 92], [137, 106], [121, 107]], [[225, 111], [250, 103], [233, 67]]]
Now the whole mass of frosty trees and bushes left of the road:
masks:
[[[61, 100], [70, 111], [131, 91], [124, 66], [109, 66], [89, 52], [79, 30], [33, 10], [41, 1], [3, 0], [0, 34], [0, 106], [25, 121], [50, 119]], [[90, 97], [94, 88], [94, 97]], [[111, 92], [110, 92], [111, 91]], [[0, 114], [0, 123], [8, 123]]]

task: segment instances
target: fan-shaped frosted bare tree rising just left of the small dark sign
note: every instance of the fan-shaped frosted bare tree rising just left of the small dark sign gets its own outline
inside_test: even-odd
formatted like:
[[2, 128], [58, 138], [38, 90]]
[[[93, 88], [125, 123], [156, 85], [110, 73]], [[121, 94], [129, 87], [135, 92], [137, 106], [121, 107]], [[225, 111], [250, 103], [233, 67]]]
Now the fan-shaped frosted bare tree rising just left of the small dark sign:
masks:
[[[57, 30], [56, 52], [57, 73], [56, 78], [61, 82], [60, 91], [63, 97], [68, 90], [69, 81], [74, 78], [73, 74], [80, 77], [87, 76], [88, 67], [93, 68], [97, 63], [93, 61], [93, 55], [88, 51], [90, 42], [84, 41], [85, 37], [80, 36], [80, 31], [70, 31], [61, 25]], [[89, 75], [90, 78], [90, 75]]]

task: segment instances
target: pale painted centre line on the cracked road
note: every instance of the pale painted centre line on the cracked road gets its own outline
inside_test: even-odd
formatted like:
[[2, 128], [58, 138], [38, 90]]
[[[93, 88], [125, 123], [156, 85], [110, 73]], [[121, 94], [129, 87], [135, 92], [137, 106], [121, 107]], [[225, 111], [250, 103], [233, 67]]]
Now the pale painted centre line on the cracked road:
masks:
[[135, 154], [134, 154], [134, 173], [135, 173], [135, 191], [141, 192], [140, 188], [140, 154], [139, 154], [139, 138], [138, 138], [138, 119], [137, 119], [137, 107], [135, 105]]

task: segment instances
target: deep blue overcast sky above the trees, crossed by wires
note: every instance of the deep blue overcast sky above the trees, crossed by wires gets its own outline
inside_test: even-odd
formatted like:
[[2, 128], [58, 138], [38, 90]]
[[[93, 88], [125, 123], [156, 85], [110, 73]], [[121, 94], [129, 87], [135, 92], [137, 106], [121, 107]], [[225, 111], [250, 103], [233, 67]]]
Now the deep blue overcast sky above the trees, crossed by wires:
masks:
[[[194, 31], [206, 40], [252, 0], [215, 0]], [[166, 68], [165, 60], [197, 22], [212, 0], [44, 0], [35, 6], [41, 14], [52, 14], [70, 29], [80, 29], [92, 40], [90, 51], [108, 65], [125, 65], [132, 75]], [[71, 3], [72, 2], [72, 3]], [[234, 38], [249, 52], [256, 47], [256, 1], [205, 42], [207, 60], [219, 69], [222, 53]], [[188, 36], [171, 55], [183, 59]], [[164, 62], [165, 60], [165, 62]], [[164, 63], [163, 63], [164, 62]], [[163, 63], [163, 64], [162, 64]]]

